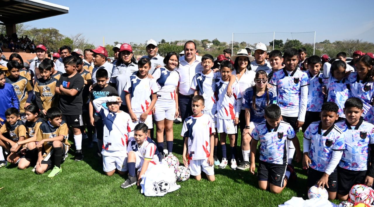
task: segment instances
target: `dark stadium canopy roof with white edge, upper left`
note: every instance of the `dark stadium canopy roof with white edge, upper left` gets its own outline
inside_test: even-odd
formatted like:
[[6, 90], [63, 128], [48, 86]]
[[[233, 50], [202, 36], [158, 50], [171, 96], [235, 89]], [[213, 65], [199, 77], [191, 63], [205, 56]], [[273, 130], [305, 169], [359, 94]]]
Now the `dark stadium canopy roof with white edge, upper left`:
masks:
[[41, 0], [0, 0], [0, 24], [15, 25], [69, 13], [69, 7]]

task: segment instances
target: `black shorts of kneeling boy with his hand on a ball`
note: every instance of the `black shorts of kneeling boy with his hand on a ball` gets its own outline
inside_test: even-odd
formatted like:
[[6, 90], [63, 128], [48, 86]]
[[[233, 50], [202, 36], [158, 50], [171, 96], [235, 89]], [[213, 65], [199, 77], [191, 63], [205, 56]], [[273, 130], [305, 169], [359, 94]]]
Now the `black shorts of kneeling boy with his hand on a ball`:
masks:
[[[321, 172], [315, 169], [312, 169], [311, 167], [308, 168], [308, 188], [316, 185], [319, 179], [321, 179], [322, 175], [324, 175], [325, 172]], [[337, 191], [337, 185], [338, 185], [338, 170], [335, 169], [334, 172], [331, 173], [331, 175], [328, 176], [327, 186], [324, 186], [328, 191], [330, 192], [336, 192]]]

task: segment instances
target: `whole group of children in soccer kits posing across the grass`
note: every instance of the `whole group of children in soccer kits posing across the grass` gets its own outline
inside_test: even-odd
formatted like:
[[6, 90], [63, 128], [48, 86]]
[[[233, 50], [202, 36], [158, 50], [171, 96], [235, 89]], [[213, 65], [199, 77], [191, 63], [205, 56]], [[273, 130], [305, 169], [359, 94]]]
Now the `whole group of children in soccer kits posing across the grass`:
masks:
[[[128, 46], [120, 47], [117, 65], [129, 67], [133, 62]], [[106, 60], [105, 51], [96, 48], [92, 52], [98, 60]], [[289, 180], [297, 178], [291, 164], [295, 152], [295, 161], [302, 161], [303, 168], [308, 169], [308, 187], [327, 187], [330, 199], [337, 195], [345, 200], [350, 186], [356, 183], [371, 186], [374, 156], [368, 155], [374, 149], [370, 146], [374, 144], [373, 59], [359, 57], [356, 72], [346, 72], [346, 63], [336, 60], [331, 64], [330, 77], [325, 77], [318, 56], [307, 58], [303, 66], [308, 70], [300, 70], [298, 50], [293, 48], [283, 55], [278, 50], [270, 52], [272, 69], [268, 71], [252, 71], [249, 57], [239, 53], [232, 59], [234, 64], [225, 60], [217, 71], [212, 70], [211, 55], [202, 57], [203, 70], [196, 73], [190, 87], [195, 91], [193, 115], [184, 120], [181, 131], [183, 164], [191, 175], [200, 180], [203, 171], [214, 181], [214, 165], [225, 168], [228, 160], [232, 169], [249, 169], [254, 174], [260, 142], [260, 189], [280, 193]], [[164, 132], [168, 153], [172, 154], [172, 122], [178, 116], [178, 54], [168, 53], [165, 66], [153, 74], [148, 74], [151, 60], [140, 59], [138, 70], [123, 85], [123, 94], [108, 84], [123, 75], [121, 69], [109, 74], [102, 64], [97, 65], [92, 84], [91, 73], [83, 69], [80, 57], [68, 56], [62, 61], [66, 73], [56, 73], [53, 61], [45, 59], [38, 67], [40, 78], [34, 81], [20, 76], [22, 67], [16, 61], [7, 64], [7, 77], [0, 71], [0, 92], [9, 98], [0, 129], [0, 145], [7, 161], [18, 163], [19, 169], [35, 163], [33, 170], [39, 174], [53, 168], [48, 175], [53, 177], [62, 171], [61, 162], [70, 148], [69, 134], [74, 137], [75, 160], [82, 160], [82, 108], [88, 103], [89, 123], [96, 128], [105, 174], [129, 172], [121, 187], [139, 184], [145, 171], [165, 156]], [[244, 80], [249, 87], [243, 88], [241, 76], [253, 79]], [[149, 137], [152, 114], [156, 142]], [[236, 155], [239, 125], [242, 158]], [[296, 136], [299, 128], [304, 133], [304, 154]], [[242, 159], [239, 166], [236, 158]]]

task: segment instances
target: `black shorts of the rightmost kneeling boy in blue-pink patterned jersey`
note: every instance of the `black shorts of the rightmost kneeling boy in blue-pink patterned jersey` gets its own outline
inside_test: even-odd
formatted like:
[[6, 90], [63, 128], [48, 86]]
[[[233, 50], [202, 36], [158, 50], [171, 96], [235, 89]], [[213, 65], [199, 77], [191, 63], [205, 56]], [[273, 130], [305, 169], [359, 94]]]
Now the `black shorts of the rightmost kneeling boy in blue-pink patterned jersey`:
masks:
[[353, 171], [338, 167], [338, 194], [347, 195], [355, 184], [364, 184], [366, 170]]

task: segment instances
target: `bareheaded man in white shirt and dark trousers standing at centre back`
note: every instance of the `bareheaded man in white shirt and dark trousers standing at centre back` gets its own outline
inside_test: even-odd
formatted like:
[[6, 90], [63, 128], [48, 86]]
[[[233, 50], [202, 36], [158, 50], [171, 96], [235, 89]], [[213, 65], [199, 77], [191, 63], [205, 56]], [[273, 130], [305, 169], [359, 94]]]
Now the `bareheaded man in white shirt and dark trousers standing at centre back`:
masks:
[[184, 119], [192, 115], [191, 101], [194, 93], [190, 88], [192, 79], [196, 73], [203, 70], [201, 57], [196, 55], [196, 44], [194, 41], [187, 41], [184, 44], [184, 56], [180, 57], [179, 68], [176, 70], [180, 78], [178, 104], [182, 122], [184, 122]]

